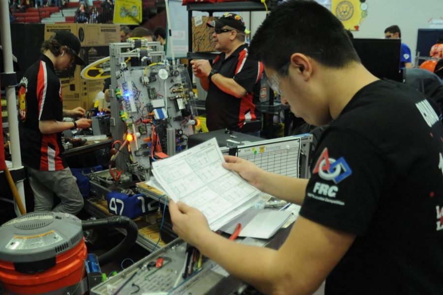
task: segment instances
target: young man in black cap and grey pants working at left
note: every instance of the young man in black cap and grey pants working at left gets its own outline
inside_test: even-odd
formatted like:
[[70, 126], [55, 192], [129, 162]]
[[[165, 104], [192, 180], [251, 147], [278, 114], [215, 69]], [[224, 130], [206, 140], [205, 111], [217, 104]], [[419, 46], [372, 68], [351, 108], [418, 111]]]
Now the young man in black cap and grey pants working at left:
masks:
[[[43, 54], [20, 81], [20, 149], [34, 193], [34, 211], [77, 214], [83, 207], [83, 197], [62, 155], [61, 137], [63, 130], [88, 128], [91, 120], [63, 122], [64, 116], [82, 117], [85, 110], [63, 110], [62, 84], [55, 73], [85, 65], [79, 51], [77, 37], [67, 31], [57, 32], [43, 42]], [[54, 193], [61, 199], [55, 208]]]

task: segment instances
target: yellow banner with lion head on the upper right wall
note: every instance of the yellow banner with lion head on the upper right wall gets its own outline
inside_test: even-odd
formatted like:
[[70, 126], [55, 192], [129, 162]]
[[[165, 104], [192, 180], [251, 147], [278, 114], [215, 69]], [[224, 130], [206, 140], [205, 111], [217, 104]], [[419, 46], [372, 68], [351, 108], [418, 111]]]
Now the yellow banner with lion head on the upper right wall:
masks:
[[366, 0], [332, 0], [331, 11], [346, 30], [358, 31], [368, 15], [368, 3]]

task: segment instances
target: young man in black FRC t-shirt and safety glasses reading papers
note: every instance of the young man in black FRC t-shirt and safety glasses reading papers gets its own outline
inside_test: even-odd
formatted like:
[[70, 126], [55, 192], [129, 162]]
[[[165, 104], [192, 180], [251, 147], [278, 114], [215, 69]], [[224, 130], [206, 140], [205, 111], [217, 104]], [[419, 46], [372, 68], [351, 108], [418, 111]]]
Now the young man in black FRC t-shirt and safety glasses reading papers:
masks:
[[267, 294], [311, 294], [324, 280], [326, 294], [441, 294], [443, 127], [431, 103], [369, 73], [343, 25], [315, 1], [279, 5], [250, 48], [296, 116], [330, 125], [309, 180], [233, 156], [223, 167], [302, 204], [300, 217], [279, 250], [228, 241], [198, 209], [171, 201], [174, 230]]

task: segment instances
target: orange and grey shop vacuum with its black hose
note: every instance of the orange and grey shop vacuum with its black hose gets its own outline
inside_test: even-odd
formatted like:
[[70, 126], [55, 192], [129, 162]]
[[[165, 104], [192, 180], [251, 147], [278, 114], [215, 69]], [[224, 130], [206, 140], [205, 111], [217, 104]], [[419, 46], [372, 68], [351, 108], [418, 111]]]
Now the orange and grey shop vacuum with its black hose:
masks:
[[97, 258], [106, 264], [135, 243], [138, 229], [126, 217], [81, 221], [66, 213], [32, 212], [0, 226], [0, 282], [6, 295], [85, 294], [87, 249], [83, 230], [124, 227], [125, 239]]

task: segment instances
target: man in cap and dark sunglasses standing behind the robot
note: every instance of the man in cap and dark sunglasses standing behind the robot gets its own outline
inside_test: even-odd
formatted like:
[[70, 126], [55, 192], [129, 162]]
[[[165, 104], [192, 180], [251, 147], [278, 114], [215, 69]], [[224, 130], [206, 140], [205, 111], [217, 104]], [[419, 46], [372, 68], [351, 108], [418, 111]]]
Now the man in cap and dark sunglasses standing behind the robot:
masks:
[[[221, 51], [213, 62], [193, 60], [192, 71], [200, 78], [206, 97], [206, 125], [209, 131], [229, 130], [260, 135], [260, 124], [246, 130], [245, 120], [260, 118], [258, 94], [263, 65], [248, 58], [245, 23], [234, 13], [207, 23], [214, 28], [215, 47]], [[246, 126], [246, 125], [245, 125]]]

